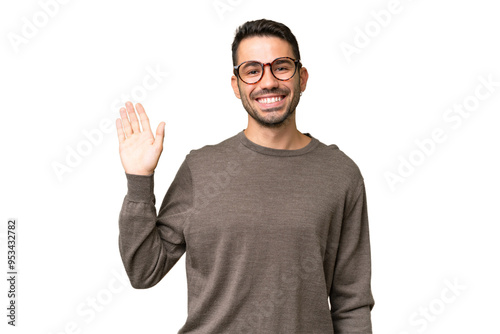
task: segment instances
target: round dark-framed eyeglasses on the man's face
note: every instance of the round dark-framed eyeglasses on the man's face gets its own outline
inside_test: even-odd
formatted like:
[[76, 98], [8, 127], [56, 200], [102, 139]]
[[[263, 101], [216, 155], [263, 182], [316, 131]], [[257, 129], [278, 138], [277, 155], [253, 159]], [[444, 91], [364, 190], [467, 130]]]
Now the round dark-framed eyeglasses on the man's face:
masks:
[[262, 79], [264, 66], [269, 65], [273, 76], [281, 81], [290, 80], [297, 72], [297, 65], [300, 59], [290, 57], [279, 57], [270, 63], [261, 63], [256, 60], [245, 61], [238, 66], [234, 66], [234, 74], [246, 84], [253, 85]]

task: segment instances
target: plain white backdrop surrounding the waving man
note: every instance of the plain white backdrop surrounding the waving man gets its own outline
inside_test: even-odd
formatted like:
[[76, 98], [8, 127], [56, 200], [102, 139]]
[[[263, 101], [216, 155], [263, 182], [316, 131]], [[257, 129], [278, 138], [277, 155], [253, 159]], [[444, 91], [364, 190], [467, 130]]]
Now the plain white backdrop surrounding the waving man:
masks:
[[2, 333], [181, 328], [185, 256], [146, 290], [121, 263], [114, 121], [131, 100], [154, 130], [166, 122], [158, 203], [191, 149], [246, 127], [230, 47], [260, 18], [291, 28], [309, 70], [299, 131], [337, 144], [364, 176], [374, 333], [498, 332], [494, 1], [30, 0], [0, 5], [5, 275], [7, 220], [19, 226], [18, 326], [2, 279]]

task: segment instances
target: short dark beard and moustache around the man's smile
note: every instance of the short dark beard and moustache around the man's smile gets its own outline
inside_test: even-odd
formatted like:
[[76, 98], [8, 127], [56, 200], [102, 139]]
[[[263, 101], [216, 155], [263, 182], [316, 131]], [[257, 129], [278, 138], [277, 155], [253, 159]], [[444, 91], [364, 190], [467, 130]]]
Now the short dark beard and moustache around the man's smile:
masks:
[[[239, 83], [238, 83], [238, 89], [239, 89]], [[288, 120], [290, 116], [292, 116], [295, 113], [295, 109], [297, 108], [297, 105], [299, 104], [300, 101], [300, 80], [297, 82], [297, 84], [294, 86], [293, 89], [293, 98], [292, 101], [288, 106], [285, 106], [286, 111], [282, 115], [276, 115], [276, 116], [271, 116], [270, 114], [274, 113], [275, 111], [280, 111], [283, 107], [277, 107], [277, 108], [269, 108], [266, 109], [266, 111], [263, 111], [262, 113], [265, 114], [266, 117], [261, 116], [259, 110], [257, 110], [255, 107], [253, 107], [250, 104], [249, 99], [243, 92], [240, 90], [240, 96], [241, 96], [241, 102], [243, 104], [243, 107], [247, 111], [247, 113], [252, 117], [258, 124], [260, 124], [263, 127], [267, 128], [279, 128], [288, 123]], [[265, 94], [276, 94], [276, 95], [285, 95], [289, 96], [290, 90], [285, 87], [285, 88], [273, 88], [273, 89], [263, 89], [257, 93], [252, 93], [250, 94], [250, 100], [255, 101], [255, 98], [260, 96], [260, 95], [265, 95]]]

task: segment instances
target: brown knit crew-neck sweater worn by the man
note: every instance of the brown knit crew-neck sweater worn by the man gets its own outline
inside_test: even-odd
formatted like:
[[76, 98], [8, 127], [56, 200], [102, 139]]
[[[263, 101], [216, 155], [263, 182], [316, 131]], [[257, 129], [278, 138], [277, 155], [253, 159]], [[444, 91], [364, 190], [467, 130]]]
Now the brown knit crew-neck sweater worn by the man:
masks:
[[158, 214], [154, 173], [125, 174], [119, 248], [132, 286], [156, 285], [186, 254], [179, 334], [372, 333], [363, 177], [306, 135], [297, 150], [243, 131], [191, 150]]

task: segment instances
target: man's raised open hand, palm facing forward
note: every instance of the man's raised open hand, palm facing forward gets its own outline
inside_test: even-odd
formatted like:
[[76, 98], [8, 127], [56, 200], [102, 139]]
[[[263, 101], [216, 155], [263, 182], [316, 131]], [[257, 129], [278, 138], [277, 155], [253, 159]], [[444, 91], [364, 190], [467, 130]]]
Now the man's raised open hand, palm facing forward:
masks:
[[132, 103], [127, 101], [125, 107], [120, 109], [121, 119], [116, 119], [120, 159], [125, 173], [136, 175], [153, 174], [163, 151], [165, 123], [161, 122], [158, 125], [155, 138], [151, 132], [149, 118], [142, 105], [140, 103], [135, 105], [140, 117], [142, 131]]

